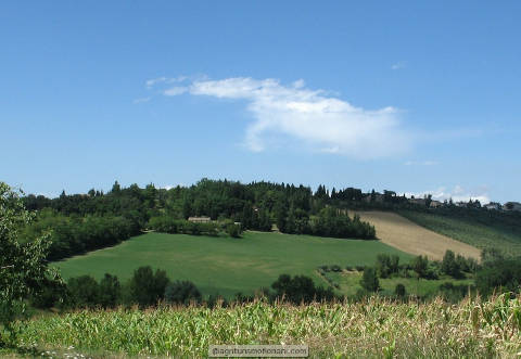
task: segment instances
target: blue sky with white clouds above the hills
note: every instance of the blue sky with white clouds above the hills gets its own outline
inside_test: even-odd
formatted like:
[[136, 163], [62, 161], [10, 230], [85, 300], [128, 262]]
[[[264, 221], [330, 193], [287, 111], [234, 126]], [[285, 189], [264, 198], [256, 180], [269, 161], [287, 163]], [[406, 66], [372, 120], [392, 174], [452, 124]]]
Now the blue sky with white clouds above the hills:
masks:
[[51, 196], [208, 177], [520, 201], [520, 11], [4, 1], [0, 179]]

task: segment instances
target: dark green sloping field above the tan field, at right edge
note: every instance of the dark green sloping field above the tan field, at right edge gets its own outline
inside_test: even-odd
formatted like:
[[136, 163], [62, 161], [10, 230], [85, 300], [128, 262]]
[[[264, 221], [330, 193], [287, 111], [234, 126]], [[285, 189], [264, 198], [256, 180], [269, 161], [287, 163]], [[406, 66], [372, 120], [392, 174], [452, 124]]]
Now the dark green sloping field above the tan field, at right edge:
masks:
[[521, 256], [521, 227], [495, 222], [484, 225], [472, 218], [452, 218], [436, 214], [401, 210], [399, 215], [431, 231], [478, 248], [498, 248], [507, 256]]

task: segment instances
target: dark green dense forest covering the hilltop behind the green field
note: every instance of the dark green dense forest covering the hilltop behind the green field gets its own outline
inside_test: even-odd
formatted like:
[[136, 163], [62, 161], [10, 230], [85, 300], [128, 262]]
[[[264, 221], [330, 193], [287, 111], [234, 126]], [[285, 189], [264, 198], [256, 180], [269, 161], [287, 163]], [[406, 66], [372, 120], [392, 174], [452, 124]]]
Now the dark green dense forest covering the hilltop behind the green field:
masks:
[[[37, 220], [23, 234], [26, 241], [50, 231], [50, 260], [58, 260], [96, 248], [114, 245], [143, 230], [169, 233], [238, 236], [243, 230], [309, 234], [341, 239], [376, 239], [372, 226], [348, 209], [436, 210], [442, 215], [472, 216], [483, 222], [519, 223], [519, 214], [504, 214], [480, 208], [475, 202], [461, 208], [447, 203], [441, 208], [411, 204], [393, 191], [383, 194], [359, 189], [309, 187], [202, 179], [191, 187], [157, 189], [153, 184], [122, 188], [116, 181], [111, 191], [90, 190], [86, 194], [66, 194], [48, 198], [26, 195], [27, 209], [36, 210]], [[189, 217], [209, 217], [212, 222], [193, 223]], [[231, 226], [236, 223], [240, 228]], [[52, 231], [51, 231], [52, 230]]]

